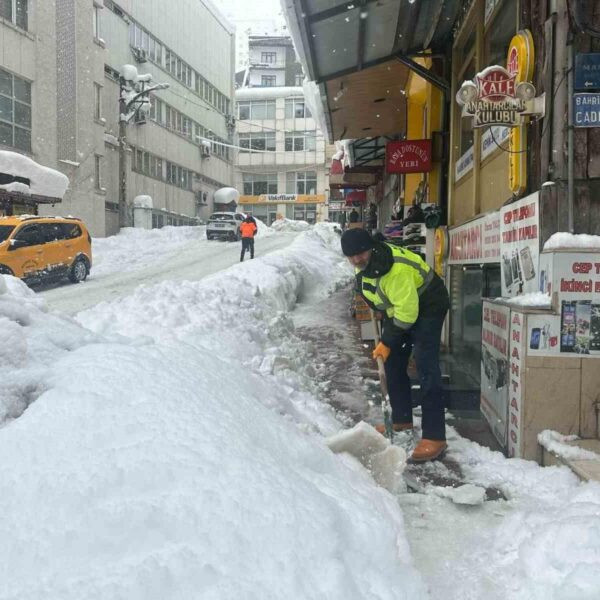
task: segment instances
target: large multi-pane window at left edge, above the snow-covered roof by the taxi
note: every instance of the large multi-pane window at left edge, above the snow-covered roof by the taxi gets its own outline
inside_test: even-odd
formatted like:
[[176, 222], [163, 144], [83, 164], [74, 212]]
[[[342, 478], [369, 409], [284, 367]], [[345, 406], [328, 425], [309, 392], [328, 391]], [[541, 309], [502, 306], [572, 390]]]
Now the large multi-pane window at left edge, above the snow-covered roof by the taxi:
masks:
[[0, 146], [31, 152], [31, 83], [2, 69]]

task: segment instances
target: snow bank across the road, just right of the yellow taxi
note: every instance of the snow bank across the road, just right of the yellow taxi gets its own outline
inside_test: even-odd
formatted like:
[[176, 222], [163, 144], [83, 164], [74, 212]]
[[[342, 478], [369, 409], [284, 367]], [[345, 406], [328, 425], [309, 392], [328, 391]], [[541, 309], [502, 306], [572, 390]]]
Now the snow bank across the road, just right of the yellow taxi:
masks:
[[90, 279], [115, 271], [127, 272], [143, 265], [152, 265], [189, 244], [206, 239], [206, 227], [163, 227], [141, 229], [127, 227], [117, 235], [94, 238], [93, 266]]

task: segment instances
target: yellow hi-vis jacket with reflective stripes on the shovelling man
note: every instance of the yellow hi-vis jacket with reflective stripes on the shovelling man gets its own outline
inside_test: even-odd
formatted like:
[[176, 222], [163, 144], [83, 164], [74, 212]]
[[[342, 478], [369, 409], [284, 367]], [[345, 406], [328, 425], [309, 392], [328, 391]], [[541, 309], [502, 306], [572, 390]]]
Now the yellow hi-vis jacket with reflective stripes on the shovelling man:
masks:
[[371, 306], [385, 312], [394, 325], [408, 329], [419, 316], [419, 296], [435, 273], [418, 254], [399, 246], [386, 245], [392, 250], [392, 268], [381, 277], [363, 275], [360, 278], [361, 293]]

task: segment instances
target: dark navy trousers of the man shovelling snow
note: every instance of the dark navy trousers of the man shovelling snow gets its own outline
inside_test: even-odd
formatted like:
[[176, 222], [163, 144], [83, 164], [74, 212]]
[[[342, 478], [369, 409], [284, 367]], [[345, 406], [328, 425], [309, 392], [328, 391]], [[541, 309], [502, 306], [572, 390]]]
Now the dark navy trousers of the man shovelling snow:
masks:
[[390, 356], [385, 361], [392, 420], [394, 423], [412, 423], [410, 379], [406, 369], [414, 350], [421, 384], [423, 437], [429, 440], [446, 439], [440, 371], [440, 340], [445, 317], [445, 312], [419, 317], [404, 336], [394, 341]]

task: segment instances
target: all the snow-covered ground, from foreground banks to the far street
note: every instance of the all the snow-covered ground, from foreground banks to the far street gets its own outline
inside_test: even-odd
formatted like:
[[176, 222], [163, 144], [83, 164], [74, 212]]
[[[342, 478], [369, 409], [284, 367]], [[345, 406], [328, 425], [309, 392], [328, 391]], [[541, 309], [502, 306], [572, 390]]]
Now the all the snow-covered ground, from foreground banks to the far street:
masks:
[[133, 235], [77, 286], [0, 279], [0, 599], [598, 597], [598, 484], [449, 428], [507, 498], [460, 506], [327, 448], [380, 418], [332, 226], [242, 264], [201, 228]]

